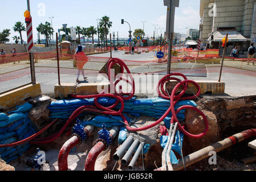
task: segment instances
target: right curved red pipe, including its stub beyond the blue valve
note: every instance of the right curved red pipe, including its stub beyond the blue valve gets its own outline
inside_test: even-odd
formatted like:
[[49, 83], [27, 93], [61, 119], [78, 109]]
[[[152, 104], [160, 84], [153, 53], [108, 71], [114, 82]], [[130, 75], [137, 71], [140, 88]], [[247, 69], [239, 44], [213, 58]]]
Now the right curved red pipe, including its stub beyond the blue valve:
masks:
[[[119, 131], [119, 127], [115, 126], [109, 131], [109, 137], [113, 140], [117, 133]], [[90, 150], [90, 152], [87, 155], [86, 162], [84, 164], [84, 171], [94, 171], [95, 170], [95, 162], [97, 159], [97, 156], [105, 150], [105, 148], [108, 146], [107, 141], [103, 139], [99, 139], [98, 142], [95, 144], [94, 147]]]

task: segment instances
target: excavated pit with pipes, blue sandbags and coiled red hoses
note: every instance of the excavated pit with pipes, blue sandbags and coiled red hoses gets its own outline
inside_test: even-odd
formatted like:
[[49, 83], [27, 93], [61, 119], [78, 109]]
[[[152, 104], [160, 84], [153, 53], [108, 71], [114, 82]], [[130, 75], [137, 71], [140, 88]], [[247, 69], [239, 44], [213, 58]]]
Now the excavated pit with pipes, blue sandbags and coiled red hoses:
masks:
[[[116, 65], [128, 76], [113, 80]], [[202, 94], [181, 73], [160, 79], [158, 97], [136, 96], [122, 60], [106, 67], [114, 93], [63, 91], [2, 107], [0, 170], [256, 170], [256, 96]]]

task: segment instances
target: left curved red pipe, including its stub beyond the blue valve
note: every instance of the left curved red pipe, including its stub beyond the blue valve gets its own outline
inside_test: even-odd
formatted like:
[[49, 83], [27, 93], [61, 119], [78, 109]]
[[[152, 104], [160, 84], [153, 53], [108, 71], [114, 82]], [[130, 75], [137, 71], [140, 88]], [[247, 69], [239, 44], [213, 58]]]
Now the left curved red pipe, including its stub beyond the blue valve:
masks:
[[[84, 131], [86, 132], [86, 135], [90, 135], [92, 131], [94, 131], [94, 126], [86, 126], [84, 127]], [[79, 135], [75, 135], [67, 142], [65, 142], [60, 148], [59, 151], [59, 156], [58, 156], [58, 166], [59, 166], [59, 171], [67, 171], [68, 169], [68, 154], [70, 154], [70, 151], [72, 148], [74, 148], [76, 145], [78, 145], [80, 142], [82, 142], [82, 138], [79, 137]]]

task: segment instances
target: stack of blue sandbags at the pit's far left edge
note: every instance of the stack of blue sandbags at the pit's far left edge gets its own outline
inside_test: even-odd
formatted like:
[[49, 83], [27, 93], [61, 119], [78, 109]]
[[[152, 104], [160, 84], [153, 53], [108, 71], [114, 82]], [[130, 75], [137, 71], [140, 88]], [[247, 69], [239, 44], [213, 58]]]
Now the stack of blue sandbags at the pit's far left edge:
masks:
[[[35, 126], [28, 113], [32, 105], [26, 103], [7, 115], [0, 113], [0, 144], [10, 144], [35, 134]], [[0, 156], [7, 163], [21, 156], [30, 147], [29, 142], [15, 147], [0, 148]]]

